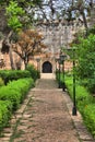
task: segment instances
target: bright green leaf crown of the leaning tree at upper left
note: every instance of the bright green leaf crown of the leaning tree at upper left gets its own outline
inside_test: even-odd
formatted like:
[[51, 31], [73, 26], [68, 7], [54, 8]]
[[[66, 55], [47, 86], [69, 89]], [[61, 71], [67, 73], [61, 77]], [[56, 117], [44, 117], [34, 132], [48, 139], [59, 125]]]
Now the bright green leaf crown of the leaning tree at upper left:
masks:
[[16, 1], [11, 1], [9, 7], [7, 8], [7, 16], [8, 16], [8, 25], [16, 31], [22, 28], [22, 22], [20, 20], [21, 16], [24, 15], [24, 10], [19, 7]]

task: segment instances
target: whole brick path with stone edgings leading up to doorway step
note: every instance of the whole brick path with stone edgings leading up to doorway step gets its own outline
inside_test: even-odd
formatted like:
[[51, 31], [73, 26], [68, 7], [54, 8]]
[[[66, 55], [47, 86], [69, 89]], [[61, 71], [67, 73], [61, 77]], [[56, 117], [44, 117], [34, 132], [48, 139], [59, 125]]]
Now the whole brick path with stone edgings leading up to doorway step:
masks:
[[81, 115], [71, 115], [72, 102], [55, 80], [39, 79], [4, 129], [0, 142], [95, 142]]

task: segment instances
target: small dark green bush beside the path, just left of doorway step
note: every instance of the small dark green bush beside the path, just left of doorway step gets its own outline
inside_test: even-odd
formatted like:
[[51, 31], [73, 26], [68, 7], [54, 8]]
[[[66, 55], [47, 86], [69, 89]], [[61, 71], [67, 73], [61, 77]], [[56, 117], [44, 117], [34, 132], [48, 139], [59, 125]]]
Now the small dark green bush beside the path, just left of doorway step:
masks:
[[35, 69], [33, 64], [27, 64], [26, 70], [31, 72], [31, 76], [34, 80], [40, 78], [39, 72]]

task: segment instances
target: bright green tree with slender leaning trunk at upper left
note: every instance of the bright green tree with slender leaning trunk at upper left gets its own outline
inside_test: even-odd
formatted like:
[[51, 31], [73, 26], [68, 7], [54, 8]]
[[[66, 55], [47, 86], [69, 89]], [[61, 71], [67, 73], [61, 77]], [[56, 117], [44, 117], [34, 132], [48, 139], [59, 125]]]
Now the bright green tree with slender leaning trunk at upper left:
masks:
[[25, 12], [23, 11], [23, 9], [20, 8], [15, 1], [14, 2], [11, 1], [9, 7], [7, 7], [8, 26], [10, 27], [11, 31], [9, 35], [3, 39], [2, 48], [9, 49], [9, 57], [10, 57], [12, 69], [14, 69], [14, 63], [13, 63], [13, 58], [12, 58], [12, 48], [11, 48], [12, 40], [13, 40], [12, 36], [13, 36], [13, 33], [15, 33], [16, 35], [16, 32], [20, 28], [22, 28], [23, 24], [20, 16], [23, 15], [24, 13]]

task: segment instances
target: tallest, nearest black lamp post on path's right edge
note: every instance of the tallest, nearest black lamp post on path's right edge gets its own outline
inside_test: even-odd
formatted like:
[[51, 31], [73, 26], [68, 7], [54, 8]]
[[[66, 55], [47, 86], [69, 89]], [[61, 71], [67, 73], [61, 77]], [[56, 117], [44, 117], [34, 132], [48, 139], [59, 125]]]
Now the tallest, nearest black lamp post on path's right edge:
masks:
[[76, 116], [76, 100], [75, 100], [75, 48], [73, 48], [73, 108], [72, 115]]

